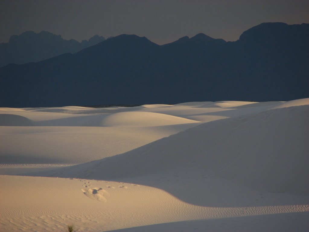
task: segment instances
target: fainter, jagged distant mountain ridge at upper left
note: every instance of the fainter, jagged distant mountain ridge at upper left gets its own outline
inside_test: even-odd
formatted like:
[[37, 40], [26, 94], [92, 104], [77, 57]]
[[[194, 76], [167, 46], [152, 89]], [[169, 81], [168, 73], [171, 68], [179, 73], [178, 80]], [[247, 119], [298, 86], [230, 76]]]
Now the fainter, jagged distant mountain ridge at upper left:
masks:
[[0, 44], [0, 67], [9, 63], [39, 62], [64, 53], [75, 53], [104, 40], [104, 37], [95, 35], [80, 43], [46, 31], [26, 31], [19, 36], [11, 36], [8, 43]]

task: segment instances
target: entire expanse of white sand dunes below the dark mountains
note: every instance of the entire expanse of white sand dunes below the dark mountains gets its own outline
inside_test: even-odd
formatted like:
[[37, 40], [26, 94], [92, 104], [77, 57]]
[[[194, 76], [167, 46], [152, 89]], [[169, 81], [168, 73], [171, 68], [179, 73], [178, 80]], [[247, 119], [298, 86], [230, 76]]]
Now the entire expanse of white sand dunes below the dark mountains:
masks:
[[0, 231], [308, 231], [308, 119], [309, 99], [0, 108]]

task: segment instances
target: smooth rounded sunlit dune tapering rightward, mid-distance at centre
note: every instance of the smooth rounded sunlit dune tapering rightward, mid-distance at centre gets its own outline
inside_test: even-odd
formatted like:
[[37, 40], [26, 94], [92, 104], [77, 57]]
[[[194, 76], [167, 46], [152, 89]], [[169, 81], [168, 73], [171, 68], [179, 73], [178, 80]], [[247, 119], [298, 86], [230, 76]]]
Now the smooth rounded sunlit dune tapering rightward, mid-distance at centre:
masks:
[[105, 127], [153, 127], [196, 122], [199, 121], [167, 114], [134, 111], [108, 115], [102, 120], [101, 125]]

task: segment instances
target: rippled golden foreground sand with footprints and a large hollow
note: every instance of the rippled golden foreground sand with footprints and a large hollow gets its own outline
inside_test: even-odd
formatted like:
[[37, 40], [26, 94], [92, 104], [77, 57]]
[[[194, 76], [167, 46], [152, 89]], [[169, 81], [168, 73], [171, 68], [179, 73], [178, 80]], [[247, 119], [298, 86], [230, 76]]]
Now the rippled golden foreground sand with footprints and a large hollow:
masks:
[[[286, 231], [281, 230], [282, 223], [289, 229], [306, 231], [304, 226], [308, 225], [308, 205], [273, 206], [272, 203], [280, 198], [275, 194], [260, 199], [265, 200], [267, 206], [202, 207], [187, 204], [161, 189], [133, 183], [94, 180], [91, 184], [102, 187], [84, 188], [89, 193], [88, 197], [81, 191], [82, 184], [89, 182], [84, 179], [27, 176], [0, 178], [2, 231], [30, 232], [33, 228], [35, 231], [66, 231], [66, 225], [71, 223], [77, 226], [78, 231], [83, 232], [122, 228], [128, 228], [124, 231], [202, 232], [205, 228], [210, 231], [235, 232]], [[105, 185], [111, 187], [106, 190], [108, 194], [105, 195], [105, 191], [99, 194]], [[126, 188], [117, 187], [119, 185]], [[194, 192], [193, 189], [191, 192]], [[229, 194], [228, 191], [227, 193]], [[192, 195], [190, 191], [186, 194]], [[251, 200], [259, 196], [254, 192], [250, 194], [247, 198]], [[294, 213], [291, 215], [289, 212]], [[280, 215], [285, 216], [281, 218]], [[196, 221], [201, 219], [201, 224]], [[300, 225], [295, 226], [294, 220], [299, 221]], [[286, 221], [290, 223], [285, 223]], [[147, 227], [132, 228], [137, 226]]]

